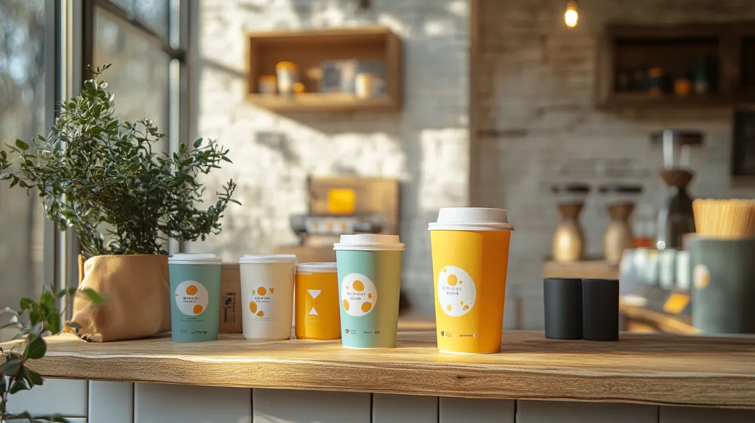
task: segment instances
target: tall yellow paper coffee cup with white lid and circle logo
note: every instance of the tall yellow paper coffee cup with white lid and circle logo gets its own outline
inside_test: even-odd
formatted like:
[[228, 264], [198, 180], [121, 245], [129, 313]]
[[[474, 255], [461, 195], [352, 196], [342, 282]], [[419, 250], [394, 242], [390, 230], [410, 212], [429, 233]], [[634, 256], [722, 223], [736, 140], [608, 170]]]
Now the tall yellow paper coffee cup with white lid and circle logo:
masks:
[[513, 230], [503, 209], [442, 208], [430, 223], [440, 351], [501, 351]]

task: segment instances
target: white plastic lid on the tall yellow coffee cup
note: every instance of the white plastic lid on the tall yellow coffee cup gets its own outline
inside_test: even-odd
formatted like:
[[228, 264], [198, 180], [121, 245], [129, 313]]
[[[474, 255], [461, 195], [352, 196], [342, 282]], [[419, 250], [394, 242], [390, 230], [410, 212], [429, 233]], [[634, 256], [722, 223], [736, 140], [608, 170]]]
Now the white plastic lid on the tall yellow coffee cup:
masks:
[[504, 209], [485, 207], [444, 207], [430, 231], [513, 231]]

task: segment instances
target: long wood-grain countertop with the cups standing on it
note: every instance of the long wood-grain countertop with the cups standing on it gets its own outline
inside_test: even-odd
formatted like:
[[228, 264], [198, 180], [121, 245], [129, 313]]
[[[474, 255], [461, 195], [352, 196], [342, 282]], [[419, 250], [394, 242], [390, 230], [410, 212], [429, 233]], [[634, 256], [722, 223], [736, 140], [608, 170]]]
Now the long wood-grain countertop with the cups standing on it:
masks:
[[510, 331], [499, 354], [455, 355], [436, 350], [431, 324], [402, 323], [398, 348], [374, 350], [240, 335], [186, 344], [63, 335], [48, 345], [30, 366], [52, 378], [755, 409], [755, 337], [744, 336], [622, 334], [620, 342], [587, 342]]

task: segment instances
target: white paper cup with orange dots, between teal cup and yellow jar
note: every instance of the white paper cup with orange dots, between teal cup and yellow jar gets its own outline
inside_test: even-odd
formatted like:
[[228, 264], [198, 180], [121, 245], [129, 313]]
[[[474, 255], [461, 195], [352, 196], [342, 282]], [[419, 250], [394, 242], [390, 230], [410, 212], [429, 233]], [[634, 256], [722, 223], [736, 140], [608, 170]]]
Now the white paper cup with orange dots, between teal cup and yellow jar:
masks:
[[296, 256], [247, 254], [239, 268], [244, 338], [291, 338]]

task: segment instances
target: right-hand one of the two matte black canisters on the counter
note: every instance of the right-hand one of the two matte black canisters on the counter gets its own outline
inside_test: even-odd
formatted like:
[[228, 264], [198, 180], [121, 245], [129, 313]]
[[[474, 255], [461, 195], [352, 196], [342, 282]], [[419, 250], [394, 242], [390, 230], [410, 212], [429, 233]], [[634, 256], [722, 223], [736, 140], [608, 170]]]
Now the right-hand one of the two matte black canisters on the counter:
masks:
[[618, 341], [618, 279], [582, 280], [582, 337]]

